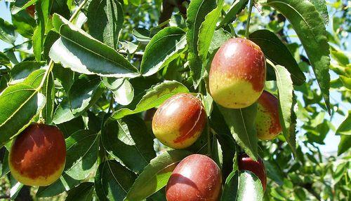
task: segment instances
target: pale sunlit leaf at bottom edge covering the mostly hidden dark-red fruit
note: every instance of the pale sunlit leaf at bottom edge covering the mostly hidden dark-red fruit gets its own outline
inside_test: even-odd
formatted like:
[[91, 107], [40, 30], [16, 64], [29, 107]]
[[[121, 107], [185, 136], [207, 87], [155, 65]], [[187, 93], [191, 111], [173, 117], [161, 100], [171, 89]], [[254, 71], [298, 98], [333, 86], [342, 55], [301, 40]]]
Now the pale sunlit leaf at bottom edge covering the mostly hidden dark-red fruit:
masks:
[[237, 201], [263, 200], [262, 183], [252, 172], [244, 171], [239, 174]]

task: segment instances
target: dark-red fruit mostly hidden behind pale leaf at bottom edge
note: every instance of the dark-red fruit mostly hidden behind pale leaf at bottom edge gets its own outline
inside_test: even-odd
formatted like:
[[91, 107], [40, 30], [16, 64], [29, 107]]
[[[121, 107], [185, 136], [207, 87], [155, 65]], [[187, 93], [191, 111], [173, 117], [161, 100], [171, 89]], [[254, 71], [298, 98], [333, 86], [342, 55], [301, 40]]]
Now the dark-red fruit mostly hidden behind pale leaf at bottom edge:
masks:
[[265, 188], [267, 186], [267, 174], [265, 172], [265, 164], [262, 159], [258, 159], [257, 161], [252, 160], [249, 155], [241, 154], [238, 159], [239, 170], [249, 170], [253, 174], [255, 174], [258, 179], [260, 179], [263, 187], [263, 192], [265, 192]]

